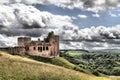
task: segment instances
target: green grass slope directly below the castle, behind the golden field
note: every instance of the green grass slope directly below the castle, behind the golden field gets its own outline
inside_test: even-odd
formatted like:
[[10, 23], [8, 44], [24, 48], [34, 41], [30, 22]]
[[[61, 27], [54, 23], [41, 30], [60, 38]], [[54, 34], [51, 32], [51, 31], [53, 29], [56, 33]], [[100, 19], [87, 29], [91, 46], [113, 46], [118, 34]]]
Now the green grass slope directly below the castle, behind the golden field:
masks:
[[45, 57], [30, 56], [30, 55], [23, 55], [22, 57], [27, 57], [27, 58], [34, 59], [37, 61], [50, 63], [53, 65], [58, 65], [58, 66], [62, 66], [62, 67], [69, 68], [69, 69], [75, 68], [74, 64], [70, 63], [67, 59], [65, 59], [63, 57], [45, 58]]

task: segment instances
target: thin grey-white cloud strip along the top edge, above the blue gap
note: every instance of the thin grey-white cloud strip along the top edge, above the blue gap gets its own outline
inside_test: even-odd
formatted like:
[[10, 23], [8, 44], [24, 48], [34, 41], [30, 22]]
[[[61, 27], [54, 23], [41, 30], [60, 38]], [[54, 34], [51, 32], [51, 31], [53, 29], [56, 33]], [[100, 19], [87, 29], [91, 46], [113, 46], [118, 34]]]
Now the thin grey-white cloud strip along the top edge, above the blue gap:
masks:
[[70, 9], [86, 8], [96, 12], [120, 6], [120, 0], [2, 0], [0, 3], [54, 4]]

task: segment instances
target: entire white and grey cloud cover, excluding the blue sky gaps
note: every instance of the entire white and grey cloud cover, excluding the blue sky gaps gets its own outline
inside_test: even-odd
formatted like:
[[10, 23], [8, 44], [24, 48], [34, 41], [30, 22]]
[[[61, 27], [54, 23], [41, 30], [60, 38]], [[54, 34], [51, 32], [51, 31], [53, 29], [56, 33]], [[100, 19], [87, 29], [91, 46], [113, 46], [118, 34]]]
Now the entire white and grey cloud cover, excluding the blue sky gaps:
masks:
[[[120, 25], [80, 29], [73, 22], [77, 16], [54, 15], [28, 5], [38, 3], [84, 8], [96, 12], [92, 16], [99, 18], [97, 11], [119, 6], [118, 0], [4, 0], [0, 3], [0, 47], [17, 45], [18, 36], [43, 38], [48, 32], [54, 31], [55, 34], [60, 35], [61, 49], [120, 48]], [[109, 15], [115, 17], [114, 13]], [[80, 18], [87, 16], [78, 15]]]

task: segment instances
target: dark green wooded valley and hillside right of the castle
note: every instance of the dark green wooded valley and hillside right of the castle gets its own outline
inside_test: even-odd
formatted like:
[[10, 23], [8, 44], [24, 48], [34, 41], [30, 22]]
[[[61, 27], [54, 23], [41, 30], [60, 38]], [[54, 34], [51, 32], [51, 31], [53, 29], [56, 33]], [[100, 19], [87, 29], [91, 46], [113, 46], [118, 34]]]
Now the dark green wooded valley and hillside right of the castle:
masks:
[[61, 51], [61, 56], [77, 65], [76, 70], [96, 76], [120, 76], [120, 53]]

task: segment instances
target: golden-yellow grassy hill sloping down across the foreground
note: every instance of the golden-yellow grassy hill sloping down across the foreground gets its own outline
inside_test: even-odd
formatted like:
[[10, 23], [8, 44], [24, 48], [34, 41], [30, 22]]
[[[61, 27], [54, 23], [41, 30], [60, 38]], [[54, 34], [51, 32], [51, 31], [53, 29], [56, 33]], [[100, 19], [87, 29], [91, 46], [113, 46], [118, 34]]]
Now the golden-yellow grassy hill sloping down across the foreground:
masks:
[[0, 80], [110, 80], [0, 51]]

